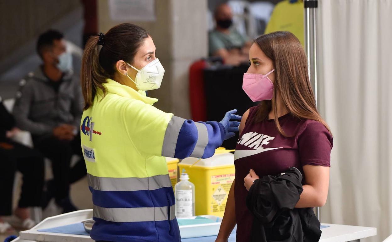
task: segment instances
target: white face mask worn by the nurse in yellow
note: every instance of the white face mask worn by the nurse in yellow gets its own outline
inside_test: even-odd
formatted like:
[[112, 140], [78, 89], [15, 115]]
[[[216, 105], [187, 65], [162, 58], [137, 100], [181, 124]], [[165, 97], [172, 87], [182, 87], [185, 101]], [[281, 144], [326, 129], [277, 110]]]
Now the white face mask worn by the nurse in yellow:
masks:
[[136, 84], [136, 87], [139, 90], [149, 91], [161, 87], [163, 74], [165, 74], [165, 69], [163, 68], [161, 62], [159, 62], [158, 58], [156, 58], [140, 70], [136, 69], [131, 64], [127, 63], [127, 65], [138, 71], [135, 80], [132, 80], [128, 73], [125, 73], [125, 75], [128, 76], [128, 78], [131, 79], [134, 84]]

